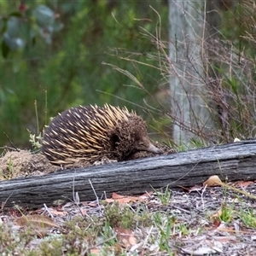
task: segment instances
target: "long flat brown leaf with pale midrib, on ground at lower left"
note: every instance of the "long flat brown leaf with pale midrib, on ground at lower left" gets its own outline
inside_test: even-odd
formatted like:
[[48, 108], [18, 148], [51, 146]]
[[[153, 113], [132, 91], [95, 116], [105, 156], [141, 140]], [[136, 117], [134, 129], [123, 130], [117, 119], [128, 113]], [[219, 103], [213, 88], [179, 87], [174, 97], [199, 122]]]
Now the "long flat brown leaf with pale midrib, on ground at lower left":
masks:
[[59, 228], [59, 224], [56, 224], [55, 221], [44, 215], [23, 215], [20, 218], [15, 219], [15, 224], [18, 224], [22, 227], [31, 226], [34, 229], [38, 228]]

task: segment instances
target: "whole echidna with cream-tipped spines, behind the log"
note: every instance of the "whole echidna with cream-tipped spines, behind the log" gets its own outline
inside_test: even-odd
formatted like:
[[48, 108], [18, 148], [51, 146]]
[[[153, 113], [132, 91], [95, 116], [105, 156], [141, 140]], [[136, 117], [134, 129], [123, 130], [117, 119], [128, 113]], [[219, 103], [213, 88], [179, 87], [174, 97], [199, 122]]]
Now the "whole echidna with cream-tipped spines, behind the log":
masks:
[[161, 153], [150, 143], [147, 125], [127, 108], [79, 106], [59, 113], [44, 133], [42, 152], [53, 164], [125, 160], [137, 151]]

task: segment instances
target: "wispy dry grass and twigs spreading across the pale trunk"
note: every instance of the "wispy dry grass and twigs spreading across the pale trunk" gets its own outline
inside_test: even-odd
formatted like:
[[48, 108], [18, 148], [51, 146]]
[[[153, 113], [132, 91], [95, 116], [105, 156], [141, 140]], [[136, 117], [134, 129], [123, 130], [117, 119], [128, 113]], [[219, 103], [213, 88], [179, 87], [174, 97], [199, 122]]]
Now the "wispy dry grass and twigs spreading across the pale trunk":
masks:
[[[207, 9], [204, 8], [206, 14]], [[191, 133], [191, 138], [195, 137], [199, 145], [228, 143], [236, 137], [255, 137], [255, 4], [247, 1], [239, 3], [236, 9], [222, 13], [218, 9], [215, 11], [218, 16], [223, 16], [223, 20], [226, 19], [226, 24], [231, 25], [219, 30], [214, 28], [211, 35], [205, 33], [203, 38], [195, 29], [193, 41], [184, 34], [184, 41], [171, 38], [167, 42], [161, 39], [160, 14], [155, 11], [158, 16], [155, 34], [141, 27], [142, 37], [154, 44], [154, 52], [113, 49], [113, 55], [132, 63], [137, 73], [145, 65], [159, 70], [162, 77], [158, 81], [159, 93], [152, 94], [147, 84], [143, 84], [135, 75], [108, 64], [129, 77], [135, 87], [147, 91], [148, 100], [141, 108], [154, 119], [156, 130], [171, 144], [172, 125]], [[188, 13], [186, 15], [189, 16]], [[209, 24], [205, 17], [202, 16], [201, 20], [202, 26], [207, 28]], [[191, 26], [195, 25], [193, 18], [188, 22]], [[171, 51], [180, 48], [177, 61], [173, 60], [172, 55], [170, 58], [170, 47]], [[173, 89], [173, 83], [177, 83], [177, 80], [178, 90], [176, 85]], [[203, 113], [195, 107], [198, 101], [204, 109]], [[184, 108], [188, 109], [189, 118], [183, 116]], [[203, 115], [206, 113], [207, 117]]]

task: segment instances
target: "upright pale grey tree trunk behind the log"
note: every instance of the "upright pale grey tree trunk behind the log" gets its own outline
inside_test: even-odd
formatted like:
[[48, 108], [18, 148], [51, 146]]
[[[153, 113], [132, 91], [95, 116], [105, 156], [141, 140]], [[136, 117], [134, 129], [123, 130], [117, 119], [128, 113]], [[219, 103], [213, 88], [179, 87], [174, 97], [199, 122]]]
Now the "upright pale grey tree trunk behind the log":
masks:
[[210, 134], [214, 127], [205, 85], [206, 14], [215, 15], [208, 12], [206, 0], [169, 0], [170, 90], [177, 144]]

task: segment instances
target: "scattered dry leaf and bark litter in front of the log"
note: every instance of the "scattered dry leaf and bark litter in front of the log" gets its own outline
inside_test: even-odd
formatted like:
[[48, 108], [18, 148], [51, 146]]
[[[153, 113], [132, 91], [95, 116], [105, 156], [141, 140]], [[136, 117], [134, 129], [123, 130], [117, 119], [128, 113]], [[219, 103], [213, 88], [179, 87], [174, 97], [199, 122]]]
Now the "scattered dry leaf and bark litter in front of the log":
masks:
[[[255, 183], [242, 186], [241, 182], [236, 186], [255, 195]], [[34, 211], [16, 210], [14, 213], [3, 209], [0, 222], [16, 233], [28, 228], [36, 230], [30, 233], [34, 238], [26, 244], [27, 250], [35, 249], [48, 236], [60, 237], [72, 232], [74, 227], [71, 228], [68, 222], [74, 222], [82, 230], [90, 230], [93, 225], [104, 230], [107, 229], [106, 219], [116, 221], [120, 217], [119, 221], [112, 220], [112, 226], [108, 227], [109, 237], [95, 230], [96, 239], [90, 241], [86, 232], [83, 233], [88, 255], [104, 255], [102, 250], [119, 250], [125, 255], [253, 255], [255, 252], [256, 218], [250, 226], [241, 216], [242, 212], [255, 213], [253, 199], [219, 186], [192, 189], [189, 193], [171, 191], [167, 203], [161, 202], [161, 196], [165, 195], [160, 193], [166, 193], [166, 190], [141, 196], [113, 194], [111, 199], [100, 202], [69, 202], [64, 206], [44, 206]], [[111, 214], [115, 215], [109, 217], [111, 208], [114, 212]], [[125, 211], [130, 211], [131, 218], [128, 219], [131, 224], [127, 226], [122, 223], [122, 218], [127, 215]], [[143, 216], [146, 217], [142, 221]]]

